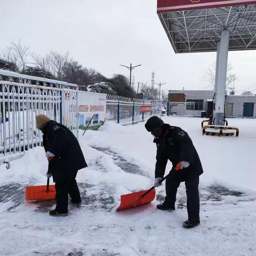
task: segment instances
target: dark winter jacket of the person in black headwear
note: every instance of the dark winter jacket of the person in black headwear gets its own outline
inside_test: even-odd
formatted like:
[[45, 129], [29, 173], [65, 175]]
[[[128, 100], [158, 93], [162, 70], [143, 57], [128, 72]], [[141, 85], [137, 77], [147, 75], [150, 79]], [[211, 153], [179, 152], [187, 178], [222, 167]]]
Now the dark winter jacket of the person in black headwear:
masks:
[[[171, 172], [178, 175], [181, 181], [198, 177], [203, 168], [197, 151], [189, 135], [180, 127], [164, 124], [163, 135], [154, 142], [157, 145], [155, 178], [163, 178], [168, 159], [172, 162]], [[175, 171], [175, 166], [181, 162], [189, 162], [189, 167]]]

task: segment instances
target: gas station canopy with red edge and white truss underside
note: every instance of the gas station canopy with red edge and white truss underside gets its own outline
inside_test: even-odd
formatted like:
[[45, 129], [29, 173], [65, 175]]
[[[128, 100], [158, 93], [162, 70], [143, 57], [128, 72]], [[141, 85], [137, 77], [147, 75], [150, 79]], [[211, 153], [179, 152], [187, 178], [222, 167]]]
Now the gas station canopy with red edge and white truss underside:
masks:
[[175, 53], [256, 50], [256, 0], [158, 0], [157, 13]]

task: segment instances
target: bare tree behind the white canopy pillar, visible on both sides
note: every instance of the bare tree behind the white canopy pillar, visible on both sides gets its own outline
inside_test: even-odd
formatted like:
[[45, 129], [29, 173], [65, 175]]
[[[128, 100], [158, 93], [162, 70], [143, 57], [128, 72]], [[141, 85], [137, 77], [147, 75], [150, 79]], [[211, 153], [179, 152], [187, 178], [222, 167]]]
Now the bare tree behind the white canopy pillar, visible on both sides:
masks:
[[[215, 85], [215, 66], [208, 68], [207, 74], [204, 76], [204, 80], [209, 82], [209, 86], [207, 88], [214, 89]], [[233, 67], [231, 64], [228, 64], [227, 67], [227, 79], [226, 79], [226, 88], [231, 84], [234, 83], [237, 79], [237, 75], [232, 73]]]

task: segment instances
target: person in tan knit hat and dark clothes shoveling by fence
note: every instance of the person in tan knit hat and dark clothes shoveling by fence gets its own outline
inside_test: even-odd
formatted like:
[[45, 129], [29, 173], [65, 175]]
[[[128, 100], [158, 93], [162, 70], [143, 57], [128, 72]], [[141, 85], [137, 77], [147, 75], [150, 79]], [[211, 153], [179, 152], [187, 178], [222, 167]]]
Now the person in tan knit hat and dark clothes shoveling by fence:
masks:
[[56, 207], [51, 216], [68, 215], [68, 195], [71, 203], [80, 204], [76, 183], [77, 171], [87, 166], [75, 135], [64, 125], [46, 115], [36, 116], [36, 127], [43, 132], [43, 145], [49, 161], [47, 177], [53, 177], [56, 189]]

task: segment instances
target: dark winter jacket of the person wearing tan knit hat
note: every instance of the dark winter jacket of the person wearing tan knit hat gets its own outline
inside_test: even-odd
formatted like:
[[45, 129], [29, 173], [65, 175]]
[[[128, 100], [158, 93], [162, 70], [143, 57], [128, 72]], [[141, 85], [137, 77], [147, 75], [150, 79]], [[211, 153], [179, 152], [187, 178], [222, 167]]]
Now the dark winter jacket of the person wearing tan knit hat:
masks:
[[64, 125], [49, 121], [43, 130], [45, 152], [55, 157], [49, 161], [49, 170], [53, 179], [75, 177], [78, 170], [87, 166], [83, 152], [75, 135]]

